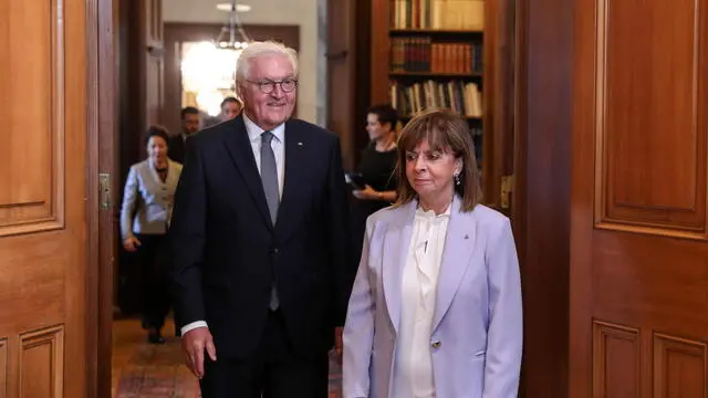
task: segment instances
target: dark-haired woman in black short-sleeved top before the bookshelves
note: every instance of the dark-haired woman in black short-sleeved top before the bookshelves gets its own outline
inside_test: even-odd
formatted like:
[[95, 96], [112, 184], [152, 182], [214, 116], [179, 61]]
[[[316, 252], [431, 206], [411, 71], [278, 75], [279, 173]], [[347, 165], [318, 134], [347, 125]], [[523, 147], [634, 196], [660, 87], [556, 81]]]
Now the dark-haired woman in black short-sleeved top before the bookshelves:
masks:
[[398, 117], [391, 105], [375, 105], [366, 114], [369, 144], [362, 153], [358, 172], [367, 182], [352, 195], [352, 260], [356, 262], [364, 242], [366, 218], [396, 200], [396, 126]]

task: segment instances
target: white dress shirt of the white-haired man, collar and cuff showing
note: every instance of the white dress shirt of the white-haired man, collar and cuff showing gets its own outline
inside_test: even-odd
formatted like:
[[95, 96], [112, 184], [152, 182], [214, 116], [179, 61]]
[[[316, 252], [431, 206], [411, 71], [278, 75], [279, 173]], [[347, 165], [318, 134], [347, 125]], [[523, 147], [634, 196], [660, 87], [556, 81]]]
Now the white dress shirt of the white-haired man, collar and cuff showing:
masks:
[[[248, 133], [248, 139], [251, 143], [253, 149], [253, 157], [256, 158], [256, 166], [258, 172], [261, 172], [261, 134], [264, 129], [260, 128], [253, 123], [246, 113], [243, 114], [243, 123], [246, 124], [246, 132]], [[270, 142], [271, 148], [273, 148], [273, 155], [275, 155], [275, 166], [278, 167], [278, 186], [279, 193], [283, 196], [283, 185], [285, 182], [285, 124], [270, 130], [273, 134], [273, 139]], [[207, 327], [205, 321], [195, 321], [181, 327], [183, 336], [197, 327]]]

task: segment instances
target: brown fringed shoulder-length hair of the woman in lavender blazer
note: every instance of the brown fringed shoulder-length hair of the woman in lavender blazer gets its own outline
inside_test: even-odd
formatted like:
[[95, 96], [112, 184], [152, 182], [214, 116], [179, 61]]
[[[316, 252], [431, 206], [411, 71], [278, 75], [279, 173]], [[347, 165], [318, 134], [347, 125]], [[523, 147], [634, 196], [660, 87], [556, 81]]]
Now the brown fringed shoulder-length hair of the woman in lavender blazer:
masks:
[[462, 198], [462, 211], [475, 209], [482, 197], [475, 144], [467, 121], [447, 109], [426, 111], [415, 116], [403, 128], [398, 139], [398, 160], [394, 171], [399, 181], [398, 199], [394, 207], [408, 203], [417, 196], [406, 177], [406, 153], [414, 150], [423, 142], [427, 142], [431, 150], [452, 154], [462, 160], [460, 184], [454, 184], [455, 192]]

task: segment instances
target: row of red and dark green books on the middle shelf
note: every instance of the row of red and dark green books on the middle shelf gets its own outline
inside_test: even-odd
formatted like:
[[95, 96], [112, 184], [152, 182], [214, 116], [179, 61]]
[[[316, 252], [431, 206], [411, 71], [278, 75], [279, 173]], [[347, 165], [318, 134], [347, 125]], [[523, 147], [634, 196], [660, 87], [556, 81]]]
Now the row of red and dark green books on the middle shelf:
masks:
[[392, 38], [392, 72], [481, 73], [481, 43], [437, 43], [430, 38]]

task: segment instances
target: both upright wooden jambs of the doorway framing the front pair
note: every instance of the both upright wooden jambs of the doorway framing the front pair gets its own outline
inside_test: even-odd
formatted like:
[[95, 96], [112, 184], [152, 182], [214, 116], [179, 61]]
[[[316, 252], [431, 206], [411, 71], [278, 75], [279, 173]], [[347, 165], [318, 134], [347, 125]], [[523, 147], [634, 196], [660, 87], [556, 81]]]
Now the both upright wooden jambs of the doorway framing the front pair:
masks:
[[[516, 1], [514, 234], [524, 275], [524, 396], [570, 390], [570, 167], [574, 2]], [[117, 214], [118, 1], [86, 1], [87, 397], [111, 391]], [[98, 175], [111, 175], [101, 207]], [[555, 192], [555, 195], [551, 195]], [[533, 212], [529, 212], [533, 209]], [[549, 286], [548, 281], [555, 281]], [[97, 327], [96, 327], [97, 325]], [[575, 369], [583, 371], [582, 369]], [[552, 381], [552, 383], [551, 383]], [[550, 384], [549, 384], [550, 383]]]

